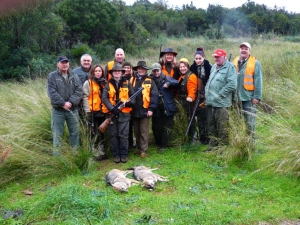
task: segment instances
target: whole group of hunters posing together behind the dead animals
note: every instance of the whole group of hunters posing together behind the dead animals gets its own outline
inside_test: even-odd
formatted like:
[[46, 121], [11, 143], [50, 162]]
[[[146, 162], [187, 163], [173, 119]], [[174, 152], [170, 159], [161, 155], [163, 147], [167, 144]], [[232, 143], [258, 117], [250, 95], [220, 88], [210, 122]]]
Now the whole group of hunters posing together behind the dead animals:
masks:
[[92, 66], [92, 57], [84, 54], [81, 66], [72, 71], [68, 58], [60, 56], [57, 70], [48, 76], [54, 155], [59, 155], [64, 123], [70, 145], [76, 150], [80, 145], [79, 122], [85, 120], [93, 124], [94, 158], [106, 159], [104, 134], [98, 127], [107, 118], [115, 163], [126, 163], [133, 145], [134, 154], [147, 157], [151, 118], [155, 144], [163, 152], [172, 136], [178, 111], [176, 99], [188, 118], [182, 122], [189, 124], [190, 143], [199, 139], [201, 144], [208, 144], [206, 151], [228, 144], [229, 109], [233, 102], [238, 103], [254, 140], [256, 105], [262, 98], [262, 70], [250, 55], [251, 45], [243, 42], [239, 47], [240, 54], [232, 63], [224, 50], [217, 49], [213, 65], [202, 47], [195, 51], [191, 65], [187, 58], [177, 61], [177, 52], [172, 48], [162, 51], [159, 61], [151, 67], [145, 61], [133, 66], [125, 60], [121, 48], [105, 68]]

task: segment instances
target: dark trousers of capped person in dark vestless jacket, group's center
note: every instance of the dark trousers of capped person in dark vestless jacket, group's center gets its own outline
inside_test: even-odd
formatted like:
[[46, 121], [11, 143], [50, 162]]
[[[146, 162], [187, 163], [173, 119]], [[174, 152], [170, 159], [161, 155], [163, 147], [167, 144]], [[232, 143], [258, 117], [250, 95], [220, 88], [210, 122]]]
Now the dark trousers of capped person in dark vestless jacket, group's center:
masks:
[[162, 148], [168, 147], [173, 126], [174, 115], [166, 116], [162, 114], [157, 117], [152, 117], [152, 131], [156, 145]]

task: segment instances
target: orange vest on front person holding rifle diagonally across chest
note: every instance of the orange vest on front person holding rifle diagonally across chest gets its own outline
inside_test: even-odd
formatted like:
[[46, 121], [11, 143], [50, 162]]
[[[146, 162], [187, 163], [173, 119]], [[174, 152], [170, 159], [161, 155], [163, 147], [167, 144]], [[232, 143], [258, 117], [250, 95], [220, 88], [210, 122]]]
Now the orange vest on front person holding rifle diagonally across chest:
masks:
[[[117, 95], [116, 95], [116, 89], [112, 83], [108, 83], [108, 100], [110, 104], [116, 105], [117, 104]], [[125, 102], [129, 98], [129, 87], [128, 87], [128, 81], [124, 81], [121, 84], [121, 87], [119, 89], [119, 101]], [[130, 113], [132, 110], [131, 107], [124, 107], [121, 109], [123, 113]], [[107, 110], [108, 111], [108, 110]]]

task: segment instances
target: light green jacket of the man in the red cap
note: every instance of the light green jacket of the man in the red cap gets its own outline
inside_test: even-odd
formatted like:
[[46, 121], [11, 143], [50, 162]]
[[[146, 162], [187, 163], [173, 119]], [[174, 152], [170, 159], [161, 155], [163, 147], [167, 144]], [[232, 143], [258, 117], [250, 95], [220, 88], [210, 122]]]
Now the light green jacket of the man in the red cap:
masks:
[[206, 105], [230, 107], [237, 86], [235, 66], [228, 60], [220, 67], [214, 64], [205, 86]]

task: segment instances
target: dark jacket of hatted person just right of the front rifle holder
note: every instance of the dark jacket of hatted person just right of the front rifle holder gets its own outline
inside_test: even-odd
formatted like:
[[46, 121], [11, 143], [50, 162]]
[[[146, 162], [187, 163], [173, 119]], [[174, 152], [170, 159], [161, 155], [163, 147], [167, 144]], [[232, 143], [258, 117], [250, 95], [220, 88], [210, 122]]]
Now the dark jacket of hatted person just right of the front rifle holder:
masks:
[[[134, 85], [134, 90], [137, 91], [138, 88], [142, 86], [146, 78], [150, 78], [147, 74], [144, 76], [139, 76], [137, 73], [132, 79], [132, 84]], [[151, 78], [150, 78], [151, 79]], [[143, 96], [142, 93], [138, 94], [135, 99], [135, 104], [132, 107], [132, 117], [147, 117], [148, 111], [154, 111], [158, 104], [158, 90], [155, 82], [151, 79], [151, 88], [150, 88], [150, 105], [148, 108], [143, 107]]]

